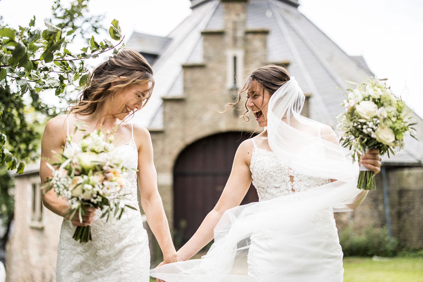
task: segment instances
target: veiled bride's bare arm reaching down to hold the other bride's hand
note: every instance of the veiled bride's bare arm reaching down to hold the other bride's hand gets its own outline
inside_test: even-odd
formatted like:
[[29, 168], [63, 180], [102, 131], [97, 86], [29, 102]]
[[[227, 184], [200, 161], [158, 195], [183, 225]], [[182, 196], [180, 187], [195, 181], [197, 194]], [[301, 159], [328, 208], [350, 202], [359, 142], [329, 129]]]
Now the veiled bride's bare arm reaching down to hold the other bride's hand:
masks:
[[[222, 214], [239, 205], [247, 194], [251, 184], [249, 157], [251, 157], [252, 142], [245, 140], [236, 150], [231, 175], [223, 189], [216, 206], [204, 218], [198, 230], [191, 239], [178, 251], [179, 260], [189, 260], [213, 239], [213, 229], [219, 222]], [[249, 156], [249, 157], [248, 157]]]

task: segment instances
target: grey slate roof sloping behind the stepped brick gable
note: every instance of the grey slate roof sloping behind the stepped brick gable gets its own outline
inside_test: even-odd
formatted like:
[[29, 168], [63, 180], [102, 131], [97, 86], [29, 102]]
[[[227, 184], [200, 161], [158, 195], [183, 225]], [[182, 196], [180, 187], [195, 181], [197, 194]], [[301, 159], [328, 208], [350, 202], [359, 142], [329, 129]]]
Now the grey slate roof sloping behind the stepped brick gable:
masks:
[[[310, 118], [334, 127], [343, 107], [340, 90], [346, 89], [345, 79], [361, 82], [374, 75], [363, 57], [349, 56], [297, 10], [297, 0], [249, 0], [247, 29], [266, 28], [267, 61], [288, 60], [288, 70], [305, 93], [310, 93]], [[134, 33], [126, 46], [139, 52], [151, 52], [159, 57], [153, 65], [154, 95], [146, 107], [137, 112], [133, 121], [148, 129], [162, 128], [162, 97], [182, 96], [184, 63], [201, 63], [203, 58], [202, 30], [222, 30], [220, 0], [192, 0], [192, 14], [167, 37]], [[151, 42], [149, 42], [149, 38]], [[423, 120], [415, 114], [419, 140], [423, 140]], [[384, 158], [389, 165], [421, 165], [423, 143], [406, 137], [404, 150]]]

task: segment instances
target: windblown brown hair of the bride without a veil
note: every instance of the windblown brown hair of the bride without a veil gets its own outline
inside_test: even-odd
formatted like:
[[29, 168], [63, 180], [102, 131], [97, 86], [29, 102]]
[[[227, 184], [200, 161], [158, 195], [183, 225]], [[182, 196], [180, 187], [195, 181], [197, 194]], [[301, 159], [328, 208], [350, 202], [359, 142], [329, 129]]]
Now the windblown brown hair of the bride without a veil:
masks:
[[133, 83], [141, 84], [148, 81], [151, 81], [153, 85], [147, 101], [154, 87], [153, 70], [140, 53], [131, 48], [124, 48], [94, 69], [90, 81], [76, 100], [77, 104], [69, 106], [69, 112], [91, 115], [99, 102], [106, 100], [110, 95], [113, 97], [118, 90]]

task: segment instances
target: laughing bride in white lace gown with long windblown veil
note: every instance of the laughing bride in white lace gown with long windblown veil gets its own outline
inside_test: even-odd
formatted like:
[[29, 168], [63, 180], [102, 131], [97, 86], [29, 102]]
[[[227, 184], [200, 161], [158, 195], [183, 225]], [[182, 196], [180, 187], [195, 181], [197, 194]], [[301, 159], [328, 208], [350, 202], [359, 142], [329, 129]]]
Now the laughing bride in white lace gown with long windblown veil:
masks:
[[[367, 194], [356, 187], [357, 162], [330, 126], [300, 115], [305, 96], [286, 68], [256, 69], [237, 102], [244, 92], [245, 113], [266, 129], [239, 146], [219, 201], [179, 249], [179, 261], [150, 275], [167, 282], [343, 281], [333, 212], [354, 210]], [[379, 151], [361, 162], [378, 173]], [[259, 202], [239, 206], [251, 181]], [[206, 255], [189, 260], [213, 238]]]

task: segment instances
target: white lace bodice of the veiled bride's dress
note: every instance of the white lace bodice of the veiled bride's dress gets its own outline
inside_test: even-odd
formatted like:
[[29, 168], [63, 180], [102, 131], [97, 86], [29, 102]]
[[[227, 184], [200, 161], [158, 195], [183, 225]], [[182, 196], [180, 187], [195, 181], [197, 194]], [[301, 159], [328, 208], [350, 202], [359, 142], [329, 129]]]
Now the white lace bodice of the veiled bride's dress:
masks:
[[329, 179], [303, 175], [291, 170], [272, 151], [258, 148], [253, 141], [250, 171], [258, 200], [301, 192], [330, 182]]

